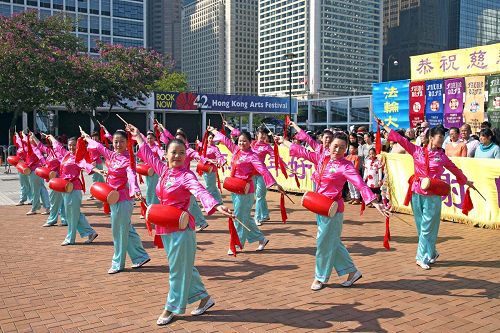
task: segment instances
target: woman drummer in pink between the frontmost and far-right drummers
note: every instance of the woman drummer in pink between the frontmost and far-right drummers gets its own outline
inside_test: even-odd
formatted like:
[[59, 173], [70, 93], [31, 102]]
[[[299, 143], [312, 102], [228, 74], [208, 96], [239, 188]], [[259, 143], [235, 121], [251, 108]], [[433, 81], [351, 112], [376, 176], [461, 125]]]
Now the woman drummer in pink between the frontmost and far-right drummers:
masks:
[[316, 192], [338, 203], [337, 212], [333, 217], [316, 215], [318, 225], [316, 269], [315, 278], [311, 285], [311, 289], [315, 291], [323, 288], [323, 285], [328, 282], [333, 268], [339, 276], [349, 274], [347, 281], [341, 283], [343, 287], [352, 286], [362, 276], [340, 239], [344, 221], [344, 201], [342, 199], [344, 184], [349, 181], [360, 191], [367, 205], [373, 203], [383, 215], [389, 214], [382, 204], [376, 202], [377, 197], [363, 182], [353, 164], [344, 158], [347, 142], [347, 135], [335, 133], [329, 147], [329, 155], [320, 151], [312, 152], [301, 145], [290, 144], [288, 141], [284, 142], [290, 147], [290, 156], [302, 157], [314, 163], [316, 171], [313, 173], [313, 181], [316, 184]]

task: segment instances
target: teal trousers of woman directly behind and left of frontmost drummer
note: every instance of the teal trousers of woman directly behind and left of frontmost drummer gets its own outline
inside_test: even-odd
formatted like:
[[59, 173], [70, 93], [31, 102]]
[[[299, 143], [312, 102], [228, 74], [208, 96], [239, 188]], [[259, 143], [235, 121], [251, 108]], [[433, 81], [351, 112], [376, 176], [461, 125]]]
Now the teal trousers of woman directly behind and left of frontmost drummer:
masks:
[[114, 249], [111, 268], [123, 270], [127, 253], [133, 264], [148, 259], [149, 255], [144, 250], [141, 238], [131, 221], [134, 202], [132, 200], [120, 201], [110, 205], [110, 208]]

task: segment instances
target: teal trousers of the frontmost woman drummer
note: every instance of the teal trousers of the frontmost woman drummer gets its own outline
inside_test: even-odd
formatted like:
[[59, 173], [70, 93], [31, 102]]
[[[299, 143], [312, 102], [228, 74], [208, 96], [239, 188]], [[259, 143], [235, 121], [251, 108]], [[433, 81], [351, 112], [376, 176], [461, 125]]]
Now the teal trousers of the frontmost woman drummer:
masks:
[[184, 231], [161, 235], [161, 240], [170, 268], [170, 288], [165, 309], [175, 314], [183, 314], [187, 304], [208, 296], [200, 273], [194, 267], [196, 233], [187, 228]]

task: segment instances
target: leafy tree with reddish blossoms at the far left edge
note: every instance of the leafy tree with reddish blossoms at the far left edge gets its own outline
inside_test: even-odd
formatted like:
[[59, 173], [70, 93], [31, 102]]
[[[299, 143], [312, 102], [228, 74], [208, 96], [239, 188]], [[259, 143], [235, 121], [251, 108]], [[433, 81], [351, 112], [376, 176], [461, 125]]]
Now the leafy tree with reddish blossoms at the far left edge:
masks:
[[0, 17], [0, 112], [42, 111], [61, 102], [60, 78], [80, 42], [62, 16], [41, 20], [36, 11]]

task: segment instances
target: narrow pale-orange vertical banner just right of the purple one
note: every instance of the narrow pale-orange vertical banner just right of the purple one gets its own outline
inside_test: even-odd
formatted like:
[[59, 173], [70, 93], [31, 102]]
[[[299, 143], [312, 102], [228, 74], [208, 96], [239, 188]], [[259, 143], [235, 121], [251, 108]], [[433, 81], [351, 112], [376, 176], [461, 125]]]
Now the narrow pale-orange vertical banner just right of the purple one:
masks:
[[481, 130], [484, 121], [484, 76], [465, 78], [464, 118], [473, 133]]

